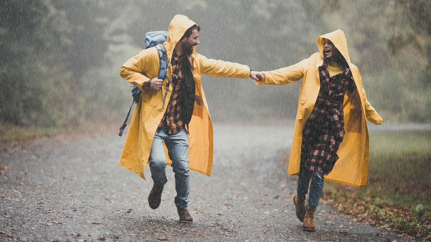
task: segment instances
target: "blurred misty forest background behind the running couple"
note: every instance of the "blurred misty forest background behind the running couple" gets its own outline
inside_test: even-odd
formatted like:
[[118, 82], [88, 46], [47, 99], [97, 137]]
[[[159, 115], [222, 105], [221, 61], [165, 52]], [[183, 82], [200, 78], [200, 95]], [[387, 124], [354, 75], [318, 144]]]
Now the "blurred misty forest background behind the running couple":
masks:
[[[308, 58], [319, 35], [340, 28], [384, 121], [429, 123], [430, 10], [428, 0], [2, 0], [0, 124], [120, 126], [132, 98], [119, 67], [175, 14], [202, 27], [198, 53], [256, 71]], [[202, 79], [217, 123], [295, 117], [300, 81]]]

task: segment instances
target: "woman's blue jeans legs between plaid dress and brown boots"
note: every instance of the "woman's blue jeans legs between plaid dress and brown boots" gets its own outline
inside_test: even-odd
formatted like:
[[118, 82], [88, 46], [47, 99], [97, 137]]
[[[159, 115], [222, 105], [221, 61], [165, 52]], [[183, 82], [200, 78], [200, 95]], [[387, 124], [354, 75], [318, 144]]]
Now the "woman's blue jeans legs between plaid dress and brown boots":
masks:
[[309, 169], [301, 169], [298, 182], [297, 182], [297, 194], [300, 198], [305, 198], [308, 192], [308, 184], [310, 183], [310, 194], [308, 196], [308, 205], [316, 208], [319, 205], [320, 195], [323, 191], [323, 173], [319, 171], [310, 171]]

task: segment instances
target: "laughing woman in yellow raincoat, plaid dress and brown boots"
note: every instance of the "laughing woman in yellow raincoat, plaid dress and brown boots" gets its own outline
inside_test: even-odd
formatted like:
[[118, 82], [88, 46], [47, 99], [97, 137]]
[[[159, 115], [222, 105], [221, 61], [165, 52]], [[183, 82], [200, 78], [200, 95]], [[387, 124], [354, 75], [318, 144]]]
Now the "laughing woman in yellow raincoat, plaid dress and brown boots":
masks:
[[[358, 68], [350, 62], [346, 37], [337, 30], [318, 37], [318, 53], [275, 71], [256, 84], [283, 85], [303, 78], [287, 173], [299, 175], [296, 214], [303, 230], [315, 231], [314, 212], [325, 180], [365, 186], [369, 138], [365, 118], [380, 115], [365, 96]], [[308, 206], [305, 195], [311, 179]]]

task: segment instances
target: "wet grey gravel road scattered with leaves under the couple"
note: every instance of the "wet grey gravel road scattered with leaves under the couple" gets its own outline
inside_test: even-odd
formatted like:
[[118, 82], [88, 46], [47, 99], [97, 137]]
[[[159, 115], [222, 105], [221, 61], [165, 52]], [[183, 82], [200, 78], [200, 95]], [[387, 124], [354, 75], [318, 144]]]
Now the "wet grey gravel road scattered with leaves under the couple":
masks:
[[[118, 165], [124, 136], [45, 137], [0, 147], [0, 241], [402, 241], [319, 205], [316, 232], [295, 216], [283, 158], [293, 127], [215, 126], [212, 177], [191, 172], [178, 222], [175, 180], [156, 210], [153, 186]], [[148, 168], [148, 167], [147, 167]]]

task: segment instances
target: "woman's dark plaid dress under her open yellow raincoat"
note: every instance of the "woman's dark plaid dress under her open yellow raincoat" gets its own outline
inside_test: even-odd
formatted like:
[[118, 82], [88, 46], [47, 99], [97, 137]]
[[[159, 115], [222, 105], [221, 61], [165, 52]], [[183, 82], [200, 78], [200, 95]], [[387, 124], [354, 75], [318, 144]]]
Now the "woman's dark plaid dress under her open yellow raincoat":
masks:
[[349, 70], [329, 77], [326, 62], [319, 68], [319, 95], [302, 131], [301, 169], [329, 174], [334, 168], [344, 137], [344, 93], [356, 87]]

